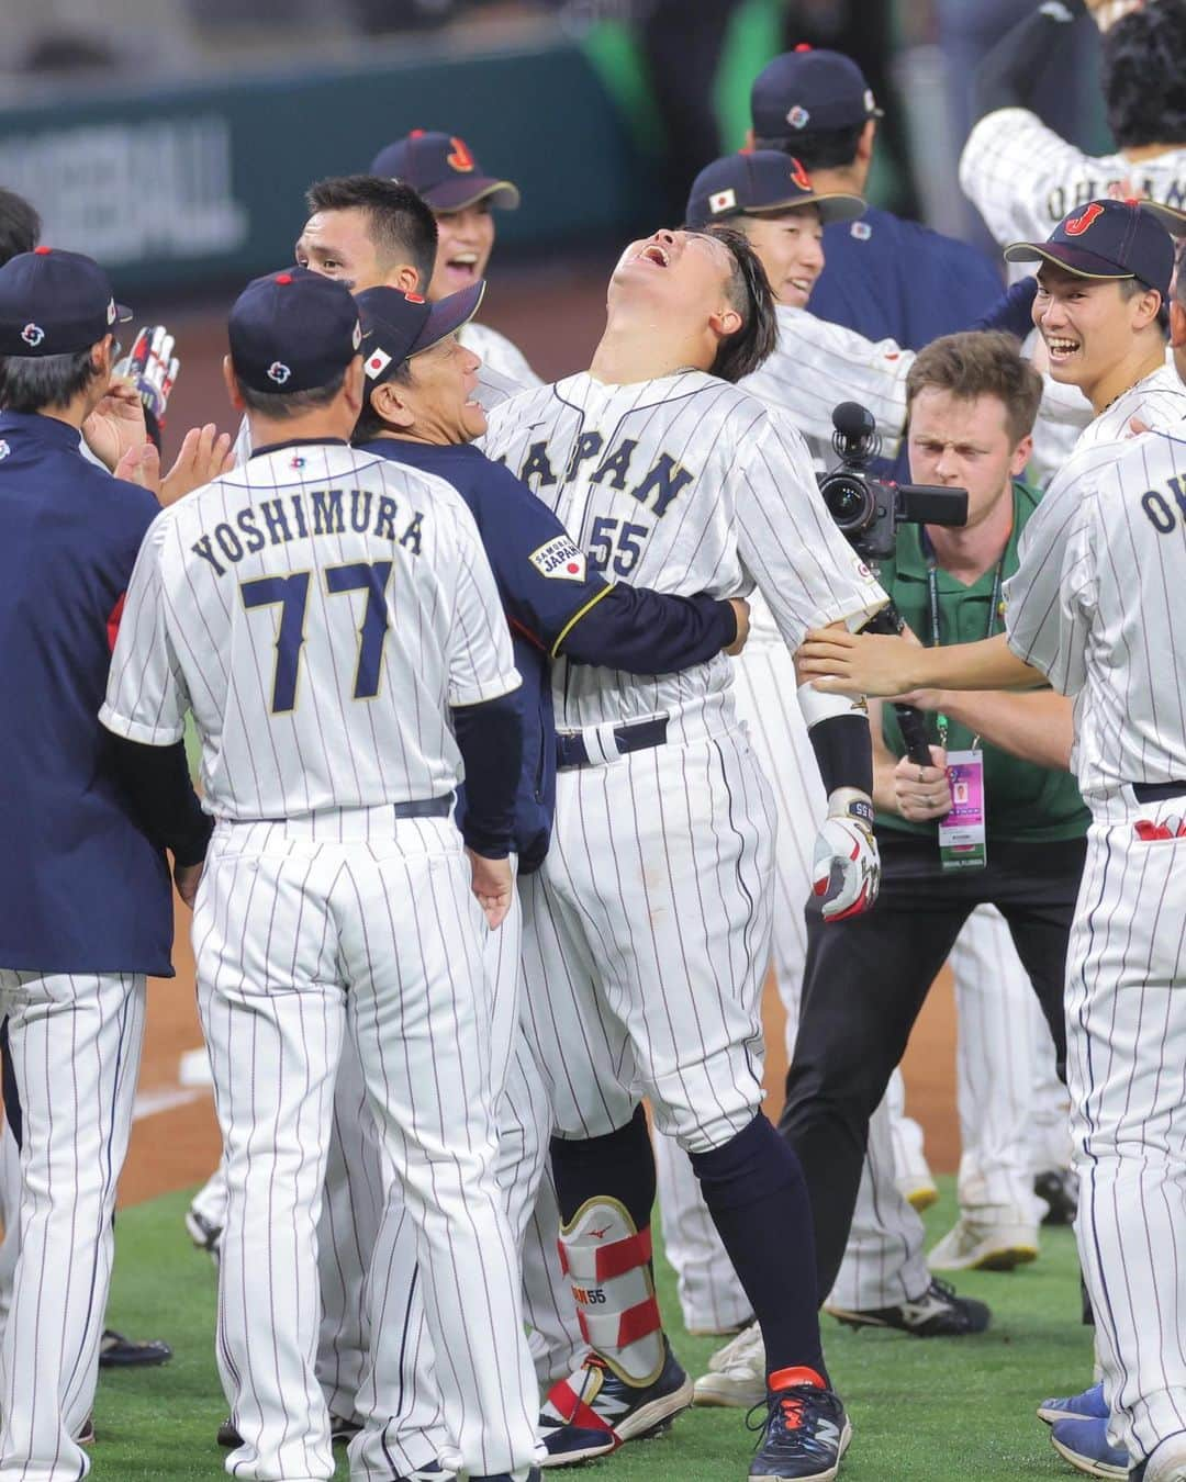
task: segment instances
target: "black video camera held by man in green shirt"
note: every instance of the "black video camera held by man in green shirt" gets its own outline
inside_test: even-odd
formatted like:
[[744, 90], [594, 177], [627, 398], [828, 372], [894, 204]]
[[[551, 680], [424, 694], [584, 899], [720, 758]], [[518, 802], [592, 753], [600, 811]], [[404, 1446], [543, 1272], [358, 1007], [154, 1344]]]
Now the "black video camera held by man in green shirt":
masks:
[[881, 452], [873, 413], [841, 402], [832, 413], [839, 467], [820, 474], [820, 494], [841, 535], [870, 566], [890, 560], [900, 525], [964, 525], [968, 491], [930, 483], [882, 483], [869, 473]]

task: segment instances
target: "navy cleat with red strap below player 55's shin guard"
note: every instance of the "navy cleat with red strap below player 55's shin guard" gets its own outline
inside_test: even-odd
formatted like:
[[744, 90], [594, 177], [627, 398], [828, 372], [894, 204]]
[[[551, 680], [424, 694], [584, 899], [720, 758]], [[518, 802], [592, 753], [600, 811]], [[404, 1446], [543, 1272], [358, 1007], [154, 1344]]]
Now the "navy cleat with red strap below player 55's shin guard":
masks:
[[540, 1411], [540, 1436], [547, 1446], [543, 1466], [572, 1466], [617, 1451], [626, 1441], [655, 1436], [692, 1403], [692, 1381], [666, 1337], [663, 1344], [663, 1369], [645, 1387], [627, 1384], [593, 1352], [551, 1386]]

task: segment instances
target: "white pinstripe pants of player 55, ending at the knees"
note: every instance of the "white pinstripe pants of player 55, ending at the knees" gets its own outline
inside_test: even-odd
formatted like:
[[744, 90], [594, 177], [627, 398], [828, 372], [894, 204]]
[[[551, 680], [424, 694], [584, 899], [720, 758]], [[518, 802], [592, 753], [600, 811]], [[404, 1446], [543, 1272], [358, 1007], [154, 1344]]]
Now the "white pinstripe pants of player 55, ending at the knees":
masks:
[[691, 1152], [762, 1103], [774, 808], [741, 731], [562, 772], [523, 882], [525, 1023], [560, 1137], [651, 1098]]

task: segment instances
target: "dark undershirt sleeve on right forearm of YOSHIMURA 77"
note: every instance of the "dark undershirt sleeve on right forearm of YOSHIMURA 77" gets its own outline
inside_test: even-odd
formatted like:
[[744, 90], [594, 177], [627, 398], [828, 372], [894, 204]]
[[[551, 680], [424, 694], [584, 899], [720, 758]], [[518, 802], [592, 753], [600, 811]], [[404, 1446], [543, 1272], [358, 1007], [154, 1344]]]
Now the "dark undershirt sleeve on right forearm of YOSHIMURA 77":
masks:
[[523, 768], [522, 686], [480, 705], [457, 705], [452, 716], [466, 763], [461, 834], [474, 854], [504, 860], [514, 842], [514, 805]]

